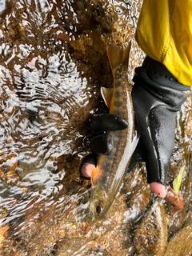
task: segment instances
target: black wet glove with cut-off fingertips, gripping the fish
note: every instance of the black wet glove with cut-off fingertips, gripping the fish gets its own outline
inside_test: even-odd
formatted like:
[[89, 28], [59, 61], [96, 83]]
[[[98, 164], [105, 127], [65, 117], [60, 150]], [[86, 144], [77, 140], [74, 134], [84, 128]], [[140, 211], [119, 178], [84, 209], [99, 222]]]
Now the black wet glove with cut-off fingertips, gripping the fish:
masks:
[[[166, 185], [167, 170], [174, 150], [175, 118], [187, 97], [183, 91], [189, 89], [190, 86], [180, 84], [165, 66], [149, 57], [146, 58], [142, 67], [135, 69], [132, 98], [135, 123], [141, 137], [128, 171], [132, 170], [137, 162], [146, 162], [147, 182]], [[116, 126], [116, 119], [110, 122], [107, 113], [104, 116], [96, 115], [97, 122], [94, 122], [94, 126], [92, 126], [94, 115], [90, 119], [90, 127], [93, 130], [99, 130], [100, 124], [104, 121], [101, 130], [107, 131], [110, 130], [110, 126]], [[120, 124], [118, 122], [116, 130], [118, 129], [124, 129], [122, 122]], [[110, 154], [113, 139], [107, 133], [98, 136], [99, 139], [94, 135], [88, 138], [86, 147], [97, 154]], [[90, 154], [83, 159], [82, 163], [90, 162], [90, 158], [94, 157], [95, 155]], [[81, 167], [82, 164], [80, 170]]]

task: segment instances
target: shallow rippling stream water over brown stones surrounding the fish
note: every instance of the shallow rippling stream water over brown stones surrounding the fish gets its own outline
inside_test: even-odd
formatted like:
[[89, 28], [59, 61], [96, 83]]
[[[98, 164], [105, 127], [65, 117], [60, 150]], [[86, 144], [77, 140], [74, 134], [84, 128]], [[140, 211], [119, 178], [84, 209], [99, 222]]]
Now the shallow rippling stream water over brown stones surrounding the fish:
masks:
[[[151, 194], [140, 165], [127, 174], [106, 218], [95, 222], [90, 183], [78, 174], [87, 120], [100, 105], [100, 87], [113, 82], [106, 43], [134, 37], [141, 4], [0, 2], [1, 255], [162, 255], [167, 241], [171, 255], [177, 235], [189, 241], [191, 96], [178, 115], [170, 165], [170, 182], [186, 166], [180, 212], [170, 216]], [[142, 59], [133, 41], [130, 80]]]

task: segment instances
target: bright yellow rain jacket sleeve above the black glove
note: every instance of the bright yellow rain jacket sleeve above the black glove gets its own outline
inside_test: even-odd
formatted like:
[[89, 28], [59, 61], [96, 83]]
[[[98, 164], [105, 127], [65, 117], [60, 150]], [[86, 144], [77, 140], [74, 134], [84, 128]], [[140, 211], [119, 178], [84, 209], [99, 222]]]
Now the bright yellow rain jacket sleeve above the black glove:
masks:
[[192, 0], [144, 0], [136, 40], [178, 82], [192, 85]]

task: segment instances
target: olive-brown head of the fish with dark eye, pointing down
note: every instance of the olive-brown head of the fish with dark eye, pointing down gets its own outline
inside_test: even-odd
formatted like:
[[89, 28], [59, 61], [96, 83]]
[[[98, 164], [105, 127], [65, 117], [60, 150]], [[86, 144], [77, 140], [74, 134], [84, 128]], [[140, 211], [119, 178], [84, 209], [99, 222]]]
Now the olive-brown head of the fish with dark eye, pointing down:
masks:
[[103, 186], [96, 185], [90, 194], [90, 210], [95, 219], [101, 219], [110, 208], [110, 197]]

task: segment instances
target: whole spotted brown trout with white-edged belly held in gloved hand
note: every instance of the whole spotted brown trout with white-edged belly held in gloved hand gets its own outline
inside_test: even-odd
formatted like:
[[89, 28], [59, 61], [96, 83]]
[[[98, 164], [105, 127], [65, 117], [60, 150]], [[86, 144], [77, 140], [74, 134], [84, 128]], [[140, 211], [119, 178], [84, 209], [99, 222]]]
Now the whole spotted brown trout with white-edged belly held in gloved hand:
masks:
[[91, 172], [90, 213], [95, 219], [103, 218], [110, 209], [138, 144], [131, 98], [132, 85], [127, 76], [130, 45], [131, 42], [126, 49], [111, 45], [106, 47], [114, 84], [112, 88], [101, 88], [102, 98], [109, 113], [125, 119], [128, 126], [124, 130], [108, 131], [114, 139], [114, 149], [108, 155], [99, 155], [97, 166]]

